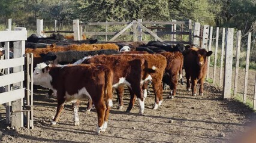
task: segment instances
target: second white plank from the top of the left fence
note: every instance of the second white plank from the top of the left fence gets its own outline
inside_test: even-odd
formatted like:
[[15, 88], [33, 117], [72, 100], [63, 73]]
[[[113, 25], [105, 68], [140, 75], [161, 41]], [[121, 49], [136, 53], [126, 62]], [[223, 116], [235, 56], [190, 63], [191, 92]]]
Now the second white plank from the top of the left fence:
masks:
[[24, 65], [24, 57], [12, 58], [9, 60], [0, 60], [0, 69], [23, 66], [23, 65]]

